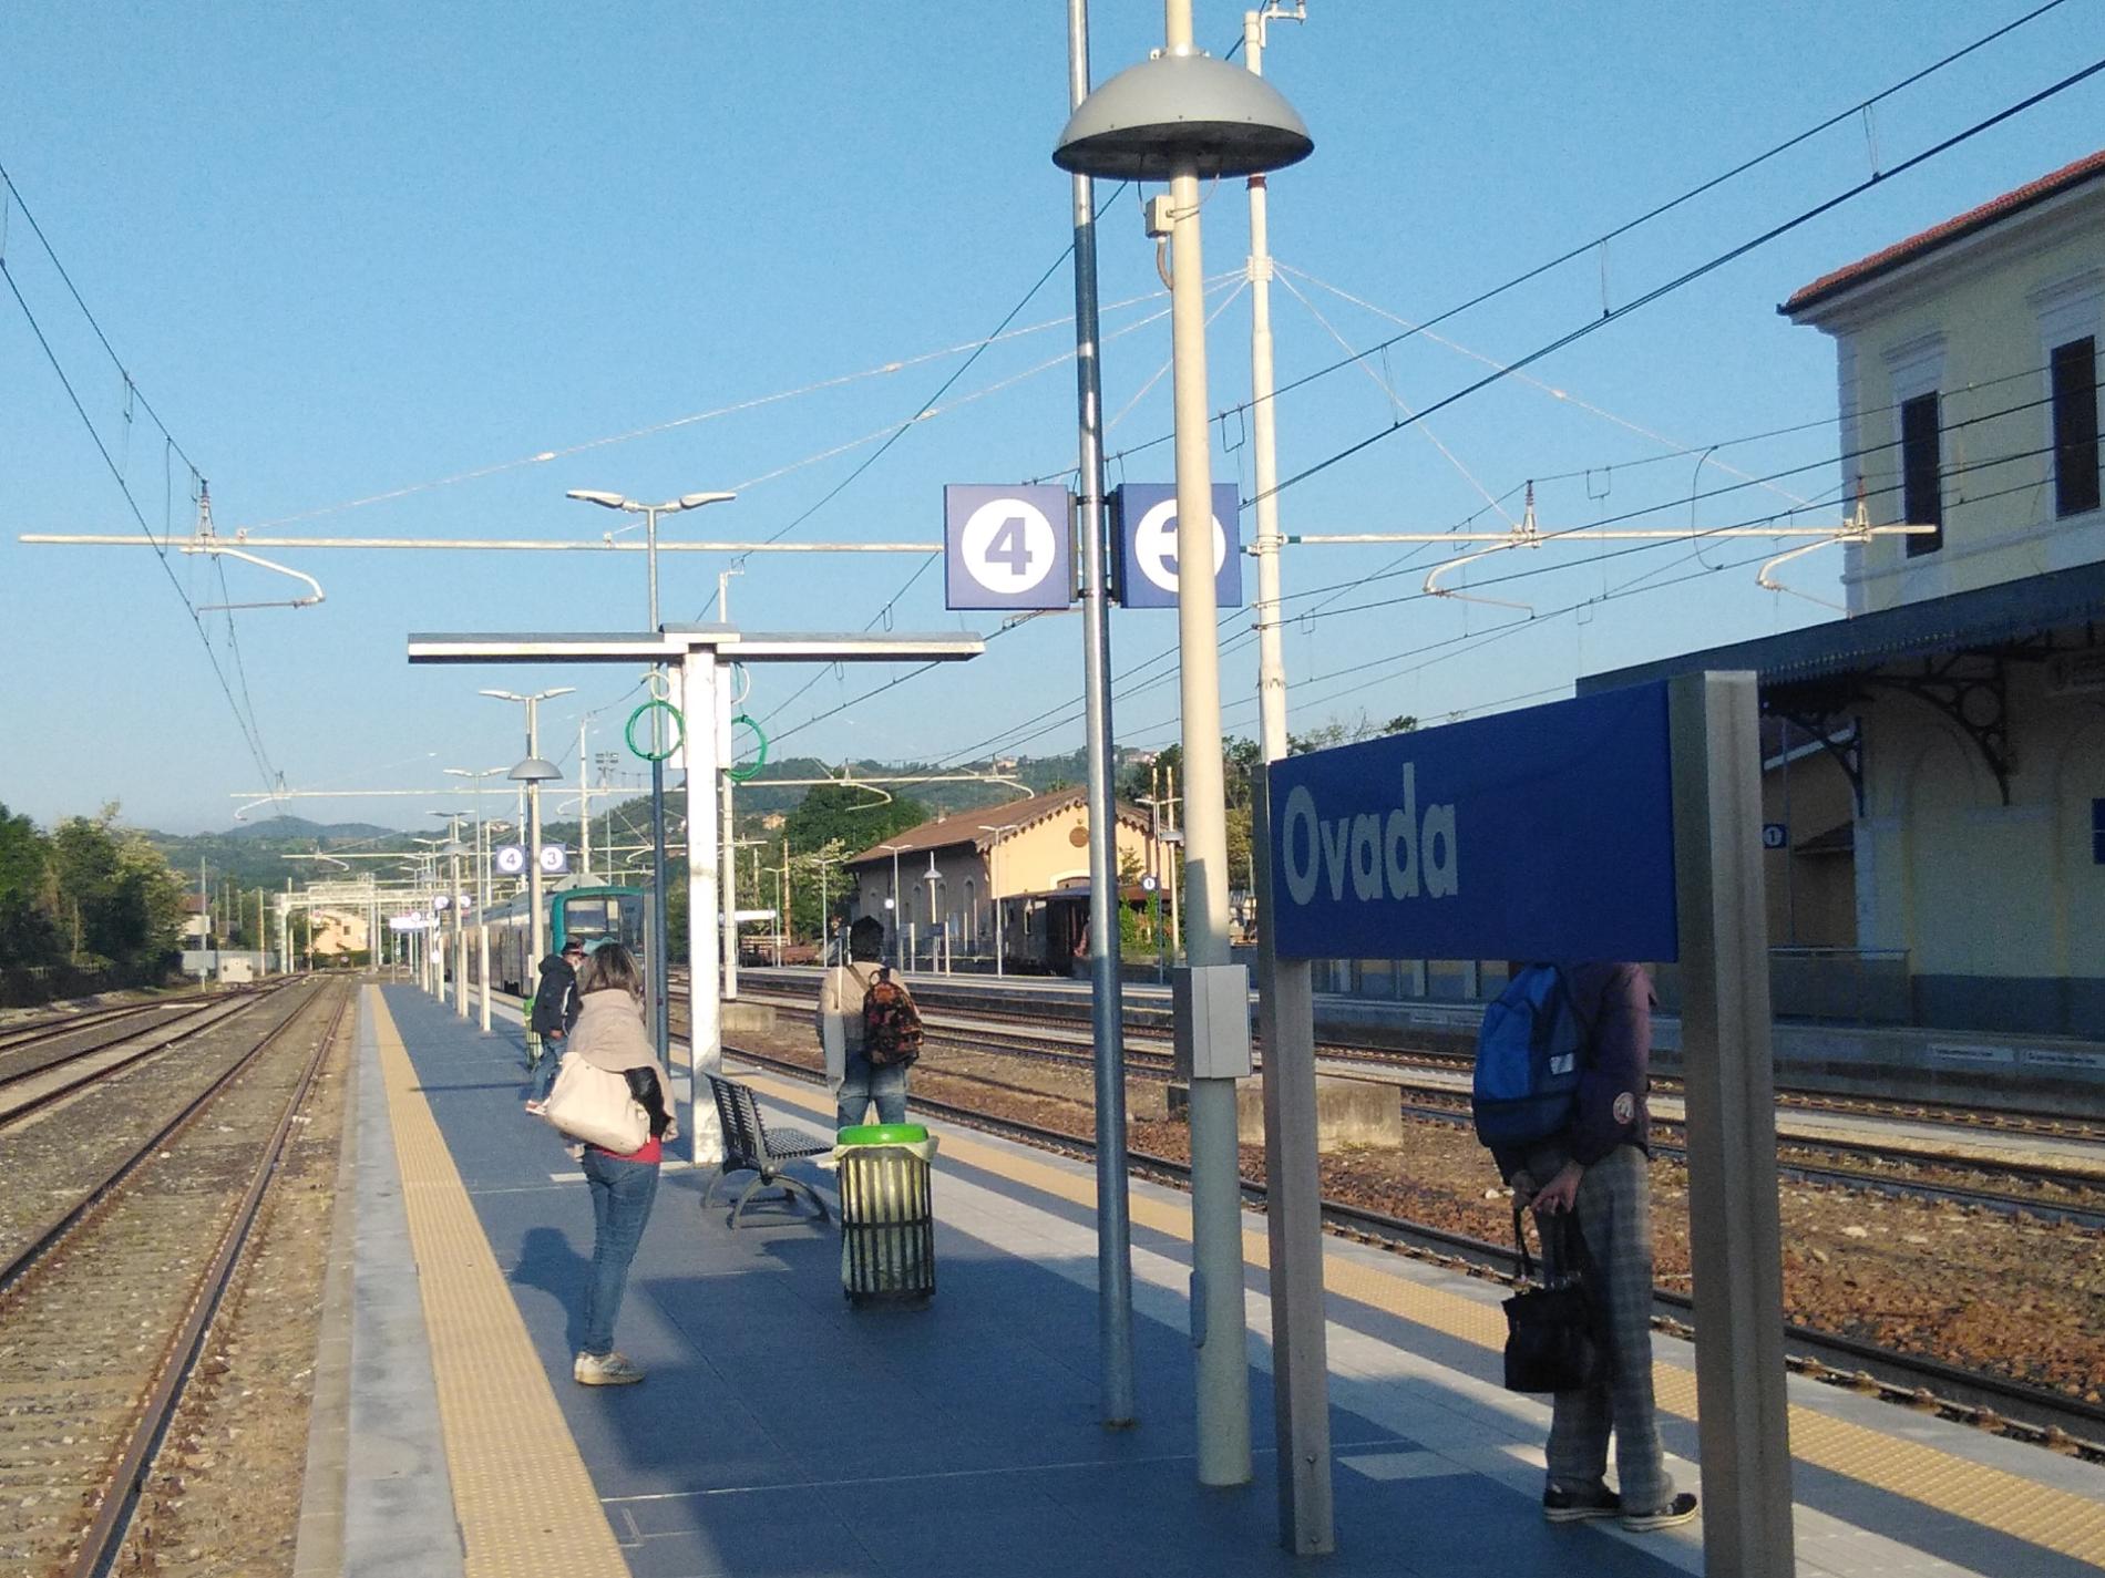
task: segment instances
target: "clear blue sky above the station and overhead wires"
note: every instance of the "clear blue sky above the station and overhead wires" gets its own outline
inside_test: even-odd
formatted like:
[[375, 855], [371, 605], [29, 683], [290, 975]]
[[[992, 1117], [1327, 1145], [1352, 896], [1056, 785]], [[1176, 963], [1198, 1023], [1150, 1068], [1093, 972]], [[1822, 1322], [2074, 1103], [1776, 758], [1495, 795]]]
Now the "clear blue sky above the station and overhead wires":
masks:
[[[1274, 179], [1280, 379], [1425, 320], [1743, 158], [1846, 109], [2029, 4], [1688, 4], [1671, 11], [1311, 0], [1276, 25], [1267, 76], [1316, 137]], [[1160, 42], [1154, 4], [1095, 6], [1103, 80]], [[1198, 0], [1225, 53], [1240, 6]], [[1292, 476], [1695, 263], [1890, 168], [2088, 65], [2097, 0], [2067, 4], [1861, 118], [1440, 326], [1280, 402]], [[665, 537], [920, 539], [945, 482], [1057, 478], [1074, 465], [1071, 274], [1061, 267], [882, 459], [823, 503], [1017, 307], [1069, 238], [1050, 164], [1065, 120], [1065, 4], [937, 2], [623, 8], [558, 4], [74, 6], [0, 11], [6, 166], [139, 396], [210, 480], [221, 532], [596, 537], [617, 520], [566, 488], [632, 497], [737, 488]], [[1705, 280], [1398, 431], [1282, 494], [1286, 530], [1444, 530], [1518, 518], [1541, 478], [1545, 530], [1665, 507], [1646, 524], [1720, 526], [1789, 507], [1777, 490], [1688, 505], [1726, 467], [1838, 488], [1829, 343], [1775, 305], [1815, 276], [2099, 147], [2105, 78], [1897, 177]], [[1109, 196], [1109, 187], [1099, 187]], [[8, 278], [158, 532], [192, 520], [189, 471], [8, 204]], [[1219, 276], [1210, 404], [1248, 393], [1242, 183], [1204, 210]], [[1168, 431], [1166, 299], [1139, 202], [1101, 223], [1105, 406], [1116, 454]], [[1292, 288], [1288, 288], [1288, 284]], [[1299, 292], [1299, 295], [1297, 295]], [[1343, 292], [1343, 295], [1341, 295]], [[1305, 301], [1301, 299], [1305, 297]], [[1356, 297], [1358, 301], [1351, 301]], [[1320, 313], [1320, 316], [1318, 316]], [[1394, 318], [1385, 318], [1391, 313]], [[1015, 332], [1029, 330], [1029, 332]], [[941, 356], [949, 351], [947, 356]], [[882, 370], [893, 364], [897, 370]], [[1541, 385], [1564, 391], [1564, 398]], [[789, 396], [768, 400], [770, 396]], [[754, 404], [764, 402], [764, 404]], [[1402, 402], [1402, 404], [1398, 404]], [[743, 406], [743, 408], [741, 408]], [[684, 421], [718, 412], [699, 421]], [[667, 427], [667, 423], [674, 423]], [[1730, 444], [1753, 433], [1789, 436]], [[638, 429], [659, 429], [623, 438]], [[613, 440], [613, 442], [606, 442]], [[1720, 444], [1697, 469], [1699, 452]], [[530, 457], [554, 452], [556, 459]], [[1168, 480], [1166, 446], [1111, 480]], [[1250, 492], [1244, 427], [1215, 431], [1215, 476]], [[465, 480], [461, 480], [465, 478]], [[436, 484], [436, 486], [434, 486]], [[356, 507], [343, 507], [352, 501]], [[817, 505], [817, 509], [813, 509]], [[1244, 513], [1244, 530], [1252, 526]], [[0, 292], [0, 802], [40, 821], [122, 800], [133, 821], [223, 827], [259, 781], [168, 576], [145, 549], [25, 547], [19, 532], [137, 532], [13, 295]], [[269, 551], [316, 574], [320, 608], [206, 631], [263, 753], [295, 789], [421, 787], [440, 766], [520, 753], [518, 709], [476, 694], [579, 684], [549, 703], [547, 751], [617, 745], [632, 675], [410, 669], [413, 629], [644, 623], [640, 555]], [[1394, 566], [1396, 549], [1297, 549], [1288, 591]], [[1297, 728], [1427, 722], [1566, 694], [1572, 675], [1831, 616], [1753, 585], [1747, 551], [1507, 555], [1488, 604], [1412, 598], [1438, 562], [1324, 604], [1286, 642]], [[754, 629], [994, 629], [947, 614], [914, 560], [747, 564], [733, 612]], [[194, 602], [217, 574], [171, 555]], [[1705, 572], [1705, 566], [1724, 566]], [[667, 555], [667, 619], [701, 616], [722, 560]], [[1495, 574], [1539, 570], [1490, 587]], [[282, 595], [227, 564], [234, 598]], [[1840, 553], [1793, 566], [1838, 598]], [[1669, 583], [1640, 593], [1631, 583]], [[1690, 579], [1692, 576], [1692, 579]], [[1469, 583], [1457, 583], [1469, 585]], [[1381, 608], [1339, 612], [1358, 604]], [[1577, 614], [1560, 614], [1577, 602]], [[1225, 638], [1246, 629], [1231, 616]], [[1497, 640], [1501, 625], [1516, 625]], [[1120, 612], [1114, 661], [1137, 684], [1175, 642], [1168, 612]], [[1223, 659], [1229, 732], [1255, 732], [1252, 646]], [[1372, 665], [1372, 667], [1362, 667]], [[583, 675], [583, 677], [581, 677]], [[987, 656], [871, 701], [890, 677], [777, 669], [747, 711], [783, 751], [943, 760], [1055, 753], [1078, 722], [1019, 728], [1080, 696], [1080, 621], [1040, 619]], [[1175, 684], [1118, 703], [1135, 745], [1177, 734]], [[640, 764], [629, 764], [634, 772]], [[640, 783], [640, 778], [629, 778]], [[436, 802], [434, 802], [436, 804]], [[423, 802], [299, 802], [324, 821], [429, 825]]]

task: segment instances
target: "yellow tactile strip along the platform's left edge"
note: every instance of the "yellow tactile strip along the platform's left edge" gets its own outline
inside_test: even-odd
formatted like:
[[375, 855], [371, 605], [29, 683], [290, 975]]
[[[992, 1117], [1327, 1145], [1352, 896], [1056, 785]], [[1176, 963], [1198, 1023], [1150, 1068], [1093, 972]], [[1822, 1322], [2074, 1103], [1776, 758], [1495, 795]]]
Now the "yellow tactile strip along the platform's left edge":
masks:
[[467, 1578], [627, 1578], [600, 1492], [379, 989], [366, 987], [364, 1012], [387, 1088]]

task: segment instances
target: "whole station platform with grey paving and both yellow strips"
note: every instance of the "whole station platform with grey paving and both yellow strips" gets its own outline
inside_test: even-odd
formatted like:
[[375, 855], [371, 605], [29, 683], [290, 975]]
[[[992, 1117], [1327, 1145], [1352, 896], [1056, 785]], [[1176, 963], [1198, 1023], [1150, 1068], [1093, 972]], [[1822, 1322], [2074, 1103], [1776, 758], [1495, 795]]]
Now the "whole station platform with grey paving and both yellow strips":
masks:
[[[1497, 1384], [1503, 1290], [1326, 1243], [1339, 1551], [1278, 1549], [1274, 1464], [1204, 1490], [1189, 1201], [1132, 1185], [1139, 1424], [1097, 1422], [1086, 1164], [945, 1132], [939, 1292], [850, 1311], [838, 1227], [699, 1208], [667, 1168], [617, 1342], [640, 1387], [570, 1380], [592, 1212], [520, 1111], [516, 1029], [366, 987], [303, 1574], [1701, 1572], [1701, 1523], [1541, 1519], [1547, 1408]], [[749, 1075], [770, 1121], [815, 1086]], [[827, 1174], [806, 1170], [831, 1195]], [[1265, 1235], [1246, 1220], [1255, 1437], [1269, 1439]], [[1661, 1427], [1697, 1485], [1695, 1355], [1659, 1340]], [[2105, 1469], [1793, 1378], [1802, 1574], [2073, 1578], [2105, 1565]]]

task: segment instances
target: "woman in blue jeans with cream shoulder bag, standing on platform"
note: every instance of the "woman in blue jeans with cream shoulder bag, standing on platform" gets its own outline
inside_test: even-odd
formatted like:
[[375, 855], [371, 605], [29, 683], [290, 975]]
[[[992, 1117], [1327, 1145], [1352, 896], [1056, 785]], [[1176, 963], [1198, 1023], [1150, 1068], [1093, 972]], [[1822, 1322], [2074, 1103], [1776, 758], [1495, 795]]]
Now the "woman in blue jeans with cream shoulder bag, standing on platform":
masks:
[[644, 1029], [644, 978], [636, 957], [619, 943], [600, 943], [577, 976], [581, 1010], [570, 1033], [570, 1056], [594, 1069], [619, 1073], [629, 1094], [650, 1115], [650, 1136], [632, 1153], [598, 1145], [579, 1147], [592, 1187], [592, 1283], [585, 1292], [585, 1338], [570, 1365], [581, 1387], [627, 1387], [644, 1378], [642, 1365], [615, 1351], [615, 1315], [629, 1283], [629, 1262], [657, 1199], [663, 1142], [678, 1136], [657, 1050]]

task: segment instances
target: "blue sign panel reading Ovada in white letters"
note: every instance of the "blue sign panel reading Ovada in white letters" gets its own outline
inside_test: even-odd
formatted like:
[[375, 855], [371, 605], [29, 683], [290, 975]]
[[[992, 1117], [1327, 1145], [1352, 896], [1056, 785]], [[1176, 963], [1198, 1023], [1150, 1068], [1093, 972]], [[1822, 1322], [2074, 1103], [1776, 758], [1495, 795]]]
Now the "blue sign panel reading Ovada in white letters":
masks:
[[1665, 684], [1269, 772], [1282, 957], [1680, 957]]

